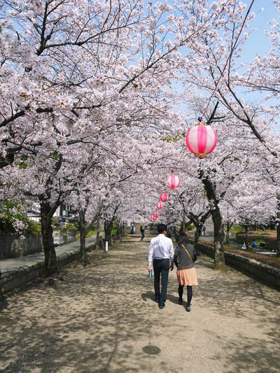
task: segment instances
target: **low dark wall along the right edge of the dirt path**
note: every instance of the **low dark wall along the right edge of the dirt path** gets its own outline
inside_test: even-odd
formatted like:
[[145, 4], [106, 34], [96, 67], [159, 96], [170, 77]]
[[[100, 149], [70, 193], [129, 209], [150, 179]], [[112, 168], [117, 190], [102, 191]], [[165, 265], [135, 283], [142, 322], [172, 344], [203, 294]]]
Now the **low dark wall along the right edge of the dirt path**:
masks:
[[[197, 251], [214, 258], [214, 248], [212, 246], [200, 243], [197, 244]], [[225, 264], [280, 290], [280, 268], [228, 251], [225, 251]]]

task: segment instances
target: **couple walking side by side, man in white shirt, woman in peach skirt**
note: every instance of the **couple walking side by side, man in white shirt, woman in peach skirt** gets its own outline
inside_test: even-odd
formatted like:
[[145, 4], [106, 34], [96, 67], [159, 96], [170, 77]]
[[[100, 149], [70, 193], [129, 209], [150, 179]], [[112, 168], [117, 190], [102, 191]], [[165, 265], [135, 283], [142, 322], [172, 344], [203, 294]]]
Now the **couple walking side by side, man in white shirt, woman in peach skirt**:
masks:
[[[183, 287], [187, 286], [188, 300], [186, 310], [190, 311], [190, 301], [193, 297], [193, 285], [198, 285], [194, 262], [197, 259], [197, 253], [193, 245], [188, 244], [188, 237], [185, 235], [179, 240], [179, 246], [175, 253], [172, 240], [167, 236], [167, 225], [158, 225], [158, 236], [151, 239], [148, 251], [148, 270], [153, 268], [155, 302], [159, 304], [160, 309], [165, 308], [167, 298], [167, 283], [169, 269], [173, 271], [174, 263], [177, 267], [177, 279], [179, 283], [179, 304], [183, 304]], [[162, 279], [162, 289], [160, 291], [160, 276]]]

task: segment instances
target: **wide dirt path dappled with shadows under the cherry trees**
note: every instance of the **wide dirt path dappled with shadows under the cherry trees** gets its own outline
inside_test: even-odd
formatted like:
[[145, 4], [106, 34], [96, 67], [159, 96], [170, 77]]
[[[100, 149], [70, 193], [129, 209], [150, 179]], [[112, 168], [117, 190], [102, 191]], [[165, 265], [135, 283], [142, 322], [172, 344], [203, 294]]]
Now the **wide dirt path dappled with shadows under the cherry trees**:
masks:
[[[136, 238], [135, 238], [136, 239]], [[10, 295], [0, 314], [1, 372], [279, 372], [280, 293], [197, 262], [187, 313], [170, 273], [166, 307], [153, 302], [148, 242], [117, 244], [64, 281]]]

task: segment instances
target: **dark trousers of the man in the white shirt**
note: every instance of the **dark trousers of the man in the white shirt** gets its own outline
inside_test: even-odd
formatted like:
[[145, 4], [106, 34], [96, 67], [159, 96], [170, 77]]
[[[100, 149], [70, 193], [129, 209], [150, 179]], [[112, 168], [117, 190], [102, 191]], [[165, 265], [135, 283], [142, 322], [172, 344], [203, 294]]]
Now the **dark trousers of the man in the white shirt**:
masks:
[[[165, 304], [167, 298], [167, 283], [169, 274], [169, 259], [153, 260], [155, 300], [160, 300], [160, 304]], [[162, 290], [160, 291], [160, 275], [162, 278]]]

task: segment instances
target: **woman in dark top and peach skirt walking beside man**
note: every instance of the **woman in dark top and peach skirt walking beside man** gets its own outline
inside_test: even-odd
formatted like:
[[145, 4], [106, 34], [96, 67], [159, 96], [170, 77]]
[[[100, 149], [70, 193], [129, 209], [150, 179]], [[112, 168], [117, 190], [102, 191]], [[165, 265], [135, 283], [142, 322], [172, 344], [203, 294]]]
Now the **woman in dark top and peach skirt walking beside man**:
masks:
[[193, 297], [193, 286], [198, 285], [195, 265], [197, 253], [193, 245], [188, 244], [188, 237], [184, 235], [179, 239], [179, 245], [174, 253], [174, 263], [177, 267], [177, 279], [179, 283], [179, 304], [183, 304], [183, 287], [187, 286], [188, 300], [186, 311], [190, 312], [190, 302]]

